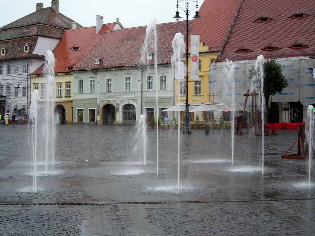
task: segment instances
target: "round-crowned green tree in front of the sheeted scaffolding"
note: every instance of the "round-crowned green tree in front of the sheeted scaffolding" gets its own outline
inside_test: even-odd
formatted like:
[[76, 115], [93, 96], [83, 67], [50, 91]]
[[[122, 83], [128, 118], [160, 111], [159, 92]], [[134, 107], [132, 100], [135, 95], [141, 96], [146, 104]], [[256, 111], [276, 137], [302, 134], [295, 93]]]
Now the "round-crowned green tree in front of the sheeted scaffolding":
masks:
[[[254, 66], [253, 68], [254, 69]], [[254, 70], [250, 71], [250, 79], [254, 73]], [[264, 61], [264, 98], [267, 114], [267, 121], [269, 119], [269, 98], [270, 96], [281, 93], [286, 87], [288, 87], [288, 81], [282, 74], [281, 65], [276, 62], [276, 59], [271, 58]]]

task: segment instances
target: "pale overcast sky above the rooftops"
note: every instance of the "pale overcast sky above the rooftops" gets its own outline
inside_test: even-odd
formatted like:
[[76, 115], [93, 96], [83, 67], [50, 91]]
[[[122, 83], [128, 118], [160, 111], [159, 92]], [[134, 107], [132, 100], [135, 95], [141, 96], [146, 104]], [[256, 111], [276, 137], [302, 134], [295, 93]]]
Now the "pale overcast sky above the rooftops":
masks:
[[[198, 0], [198, 9], [204, 0]], [[1, 0], [0, 27], [18, 20], [36, 10], [36, 3], [43, 3], [44, 8], [51, 6], [51, 0]], [[59, 0], [59, 12], [76, 21], [78, 24], [88, 27], [95, 26], [96, 15], [104, 16], [104, 23], [116, 21], [125, 27], [148, 25], [156, 19], [157, 23], [173, 22], [176, 12], [176, 0]], [[185, 1], [178, 5], [185, 9]], [[196, 5], [196, 1], [190, 0], [189, 9]], [[189, 19], [195, 15], [196, 8], [189, 14]], [[185, 20], [185, 13], [179, 9]]]

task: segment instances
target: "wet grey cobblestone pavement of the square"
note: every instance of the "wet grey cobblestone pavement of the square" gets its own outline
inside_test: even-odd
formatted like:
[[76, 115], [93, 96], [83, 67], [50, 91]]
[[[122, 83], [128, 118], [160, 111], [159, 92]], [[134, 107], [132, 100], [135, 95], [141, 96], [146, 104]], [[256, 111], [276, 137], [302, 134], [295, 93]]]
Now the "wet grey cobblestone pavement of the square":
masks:
[[[315, 235], [314, 164], [282, 159], [297, 130], [148, 129], [146, 165], [133, 126], [57, 126], [55, 165], [32, 189], [27, 125], [0, 126], [0, 235]], [[292, 148], [297, 153], [297, 147]]]

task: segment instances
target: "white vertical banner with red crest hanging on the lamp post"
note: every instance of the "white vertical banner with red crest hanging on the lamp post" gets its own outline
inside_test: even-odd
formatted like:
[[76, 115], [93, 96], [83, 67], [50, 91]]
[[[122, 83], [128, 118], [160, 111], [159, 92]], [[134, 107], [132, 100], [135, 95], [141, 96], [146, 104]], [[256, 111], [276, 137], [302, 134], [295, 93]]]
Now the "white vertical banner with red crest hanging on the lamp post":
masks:
[[199, 40], [200, 35], [192, 34], [190, 36], [190, 79], [199, 80]]

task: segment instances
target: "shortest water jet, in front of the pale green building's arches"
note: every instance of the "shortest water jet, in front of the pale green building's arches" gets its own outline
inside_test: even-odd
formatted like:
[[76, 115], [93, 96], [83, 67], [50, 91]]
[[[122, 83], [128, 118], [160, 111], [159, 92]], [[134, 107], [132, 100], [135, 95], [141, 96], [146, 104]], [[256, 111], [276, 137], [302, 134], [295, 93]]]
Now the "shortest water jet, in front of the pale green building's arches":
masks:
[[140, 120], [135, 126], [135, 145], [133, 148], [133, 154], [134, 156], [138, 156], [142, 153], [143, 165], [146, 165], [146, 147], [148, 143], [146, 126], [146, 116], [141, 114]]

